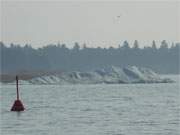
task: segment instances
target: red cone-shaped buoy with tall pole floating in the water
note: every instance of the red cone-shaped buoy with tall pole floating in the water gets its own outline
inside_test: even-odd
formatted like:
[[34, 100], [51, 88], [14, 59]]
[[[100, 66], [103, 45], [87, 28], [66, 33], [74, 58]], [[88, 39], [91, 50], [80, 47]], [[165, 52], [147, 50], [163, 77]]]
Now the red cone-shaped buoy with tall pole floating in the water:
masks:
[[14, 104], [11, 108], [11, 111], [24, 111], [24, 106], [19, 99], [19, 88], [18, 88], [18, 76], [16, 76], [16, 89], [17, 89], [17, 100], [14, 101]]

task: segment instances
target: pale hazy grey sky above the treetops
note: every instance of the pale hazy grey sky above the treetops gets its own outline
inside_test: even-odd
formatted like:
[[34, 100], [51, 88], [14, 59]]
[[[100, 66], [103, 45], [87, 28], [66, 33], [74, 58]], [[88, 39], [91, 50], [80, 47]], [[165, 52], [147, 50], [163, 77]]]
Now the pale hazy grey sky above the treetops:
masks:
[[2, 2], [1, 41], [40, 47], [180, 41], [180, 2]]

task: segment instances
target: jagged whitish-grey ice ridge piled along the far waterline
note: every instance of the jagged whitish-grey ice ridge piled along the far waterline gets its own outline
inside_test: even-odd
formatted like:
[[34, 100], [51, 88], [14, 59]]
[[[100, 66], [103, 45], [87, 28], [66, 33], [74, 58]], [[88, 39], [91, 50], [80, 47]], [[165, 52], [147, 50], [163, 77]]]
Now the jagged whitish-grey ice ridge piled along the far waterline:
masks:
[[148, 68], [115, 67], [91, 72], [65, 72], [56, 75], [36, 77], [28, 80], [30, 84], [121, 84], [121, 83], [170, 83]]

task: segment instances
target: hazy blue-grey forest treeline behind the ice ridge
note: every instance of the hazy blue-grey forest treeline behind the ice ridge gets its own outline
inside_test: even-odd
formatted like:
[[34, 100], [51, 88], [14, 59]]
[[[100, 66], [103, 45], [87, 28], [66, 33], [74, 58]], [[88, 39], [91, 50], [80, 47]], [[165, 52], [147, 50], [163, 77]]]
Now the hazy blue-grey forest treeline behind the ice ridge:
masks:
[[[171, 46], [171, 47], [168, 47]], [[139, 48], [135, 40], [133, 47], [127, 41], [117, 48], [89, 48], [78, 43], [73, 48], [65, 44], [51, 44], [34, 49], [30, 45], [11, 44], [7, 47], [0, 42], [1, 74], [38, 71], [84, 71], [107, 66], [129, 66], [151, 68], [158, 73], [180, 73], [180, 43], [168, 45], [163, 40], [159, 48], [153, 41], [150, 47]]]

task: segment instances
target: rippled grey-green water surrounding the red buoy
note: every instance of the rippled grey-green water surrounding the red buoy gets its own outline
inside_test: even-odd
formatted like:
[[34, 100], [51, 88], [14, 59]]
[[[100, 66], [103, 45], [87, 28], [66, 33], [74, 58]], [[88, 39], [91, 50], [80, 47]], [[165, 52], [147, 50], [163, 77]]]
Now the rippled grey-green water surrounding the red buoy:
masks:
[[2, 85], [1, 135], [179, 135], [179, 88], [179, 83], [21, 85], [26, 111], [17, 113], [10, 111], [15, 86]]

